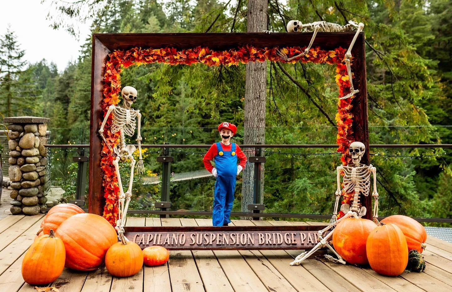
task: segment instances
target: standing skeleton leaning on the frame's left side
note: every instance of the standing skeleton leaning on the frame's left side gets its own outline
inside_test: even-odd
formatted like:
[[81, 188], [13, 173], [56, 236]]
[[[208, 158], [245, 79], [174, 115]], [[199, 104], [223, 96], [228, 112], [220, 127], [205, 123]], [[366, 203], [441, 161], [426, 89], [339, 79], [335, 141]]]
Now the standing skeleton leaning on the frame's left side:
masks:
[[[143, 157], [141, 156], [141, 113], [139, 110], [131, 108], [133, 102], [137, 100], [137, 89], [132, 86], [124, 86], [121, 91], [121, 96], [124, 104], [121, 106], [110, 105], [108, 107], [107, 114], [105, 115], [104, 121], [100, 126], [99, 134], [104, 139], [105, 144], [110, 150], [113, 150], [113, 155], [116, 157], [113, 160], [113, 165], [115, 167], [116, 175], [118, 176], [118, 186], [119, 186], [119, 198], [118, 198], [118, 220], [116, 221], [116, 230], [118, 235], [123, 240], [122, 233], [124, 232], [124, 223], [126, 221], [127, 209], [129, 207], [130, 198], [132, 197], [132, 182], [133, 182], [133, 171], [135, 168], [135, 159], [133, 158], [133, 152], [137, 150], [134, 145], [126, 145], [125, 135], [132, 137], [135, 132], [136, 118], [138, 119], [138, 151], [140, 152], [137, 173], [142, 174], [144, 172]], [[104, 126], [110, 116], [113, 114], [113, 121], [110, 128], [112, 134], [119, 132], [119, 145], [111, 148], [104, 137]], [[124, 193], [122, 188], [121, 175], [119, 174], [119, 161], [125, 162], [130, 160], [130, 181], [129, 187]], [[124, 204], [125, 201], [125, 204]]]

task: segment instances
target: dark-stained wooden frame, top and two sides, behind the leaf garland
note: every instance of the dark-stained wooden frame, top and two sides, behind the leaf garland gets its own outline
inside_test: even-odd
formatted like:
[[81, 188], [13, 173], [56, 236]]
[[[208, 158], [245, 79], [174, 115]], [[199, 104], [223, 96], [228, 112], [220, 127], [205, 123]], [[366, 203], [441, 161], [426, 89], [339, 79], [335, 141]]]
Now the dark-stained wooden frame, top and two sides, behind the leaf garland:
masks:
[[[348, 48], [354, 32], [317, 33], [313, 47], [322, 50], [333, 50], [337, 47]], [[127, 50], [133, 47], [174, 47], [187, 49], [198, 46], [213, 50], [225, 50], [244, 45], [255, 47], [294, 47], [309, 44], [312, 33], [95, 33], [93, 34], [92, 65], [91, 65], [91, 123], [89, 138], [89, 212], [103, 214], [105, 199], [102, 188], [102, 170], [100, 168], [102, 139], [98, 131], [104, 117], [101, 109], [103, 99], [104, 66], [108, 54], [113, 50]], [[360, 33], [352, 55], [354, 62], [352, 71], [353, 85], [359, 93], [353, 99], [353, 135], [355, 141], [366, 145], [367, 151], [361, 160], [369, 164], [369, 133], [367, 126], [367, 87], [366, 87], [366, 54], [364, 33]], [[335, 182], [331, 182], [335, 184]], [[332, 200], [333, 195], [332, 195]], [[363, 202], [367, 207], [367, 219], [372, 217], [371, 196]]]

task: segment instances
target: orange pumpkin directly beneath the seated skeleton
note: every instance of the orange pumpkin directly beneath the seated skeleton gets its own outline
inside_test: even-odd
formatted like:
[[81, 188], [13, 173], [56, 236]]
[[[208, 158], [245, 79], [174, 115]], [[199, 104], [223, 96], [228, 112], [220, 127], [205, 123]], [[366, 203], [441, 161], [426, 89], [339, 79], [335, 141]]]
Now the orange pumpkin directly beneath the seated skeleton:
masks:
[[333, 245], [340, 256], [350, 264], [367, 264], [367, 236], [377, 225], [363, 218], [347, 218], [334, 228]]

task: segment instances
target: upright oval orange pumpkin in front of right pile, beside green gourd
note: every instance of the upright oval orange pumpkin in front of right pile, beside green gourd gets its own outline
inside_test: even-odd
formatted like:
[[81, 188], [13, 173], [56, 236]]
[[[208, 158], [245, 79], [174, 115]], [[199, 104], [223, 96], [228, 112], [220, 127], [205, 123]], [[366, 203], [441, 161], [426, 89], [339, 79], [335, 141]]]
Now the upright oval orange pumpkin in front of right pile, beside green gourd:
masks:
[[405, 235], [394, 224], [378, 226], [367, 238], [367, 259], [371, 268], [385, 276], [398, 276], [408, 264]]

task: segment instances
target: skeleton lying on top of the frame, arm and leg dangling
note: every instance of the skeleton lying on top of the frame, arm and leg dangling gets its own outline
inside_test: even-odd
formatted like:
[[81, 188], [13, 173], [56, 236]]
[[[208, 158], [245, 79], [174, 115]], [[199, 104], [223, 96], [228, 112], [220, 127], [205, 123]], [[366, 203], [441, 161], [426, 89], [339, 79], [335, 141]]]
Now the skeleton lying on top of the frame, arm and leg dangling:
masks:
[[[353, 37], [352, 42], [350, 43], [350, 46], [348, 47], [347, 52], [345, 53], [345, 65], [347, 66], [347, 75], [348, 75], [348, 80], [350, 81], [350, 93], [339, 98], [339, 99], [347, 99], [359, 92], [358, 89], [353, 88], [352, 70], [350, 69], [350, 58], [352, 57], [352, 48], [356, 42], [356, 39], [358, 38], [358, 34], [363, 31], [363, 28], [364, 28], [363, 23], [360, 22], [359, 24], [357, 24], [356, 22], [350, 20], [350, 21], [348, 21], [348, 24], [342, 26], [339, 24], [334, 24], [334, 23], [330, 23], [330, 22], [326, 22], [326, 21], [316, 21], [316, 22], [313, 22], [310, 24], [302, 24], [301, 21], [299, 21], [299, 20], [291, 20], [291, 21], [289, 21], [289, 23], [287, 23], [287, 31], [289, 33], [291, 33], [291, 32], [314, 32], [312, 34], [311, 42], [309, 42], [309, 45], [308, 45], [308, 47], [306, 47], [304, 52], [302, 52], [301, 54], [299, 54], [297, 56], [291, 57], [291, 58], [287, 58], [287, 55], [279, 50], [277, 51], [277, 53], [281, 57], [282, 60], [292, 61], [293, 59], [296, 59], [298, 57], [307, 56], [309, 49], [311, 48], [312, 43], [314, 42], [315, 36], [317, 35], [318, 32], [329, 32], [329, 33], [347, 32], [347, 31], [352, 31], [355, 28], [356, 28], [356, 33]], [[264, 32], [270, 33], [269, 31], [264, 31]]]

